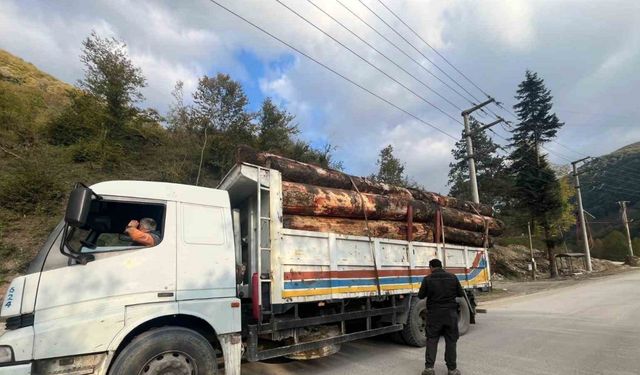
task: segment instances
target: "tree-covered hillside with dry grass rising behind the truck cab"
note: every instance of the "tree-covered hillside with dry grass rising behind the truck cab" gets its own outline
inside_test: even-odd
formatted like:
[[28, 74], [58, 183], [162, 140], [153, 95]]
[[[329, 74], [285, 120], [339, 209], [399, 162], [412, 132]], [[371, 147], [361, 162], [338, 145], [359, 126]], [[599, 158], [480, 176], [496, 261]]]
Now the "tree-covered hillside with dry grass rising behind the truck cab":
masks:
[[[269, 98], [250, 111], [242, 85], [227, 74], [199, 80], [200, 92], [208, 93], [201, 107], [185, 104], [182, 92], [179, 102], [174, 96], [167, 118], [139, 107], [144, 72], [116, 56], [109, 49], [115, 48], [112, 40], [89, 38], [105, 48], [99, 53], [110, 57], [110, 64], [120, 64], [121, 69], [103, 73], [124, 82], [119, 87], [126, 90], [105, 93], [91, 85], [82, 90], [0, 50], [0, 292], [26, 269], [60, 220], [76, 182], [135, 179], [215, 187], [235, 163], [240, 144], [324, 167], [339, 165], [333, 164], [330, 145], [316, 148], [297, 138], [294, 116]], [[137, 83], [124, 77], [123, 69], [139, 74]], [[220, 108], [217, 117], [201, 115], [208, 106]]]

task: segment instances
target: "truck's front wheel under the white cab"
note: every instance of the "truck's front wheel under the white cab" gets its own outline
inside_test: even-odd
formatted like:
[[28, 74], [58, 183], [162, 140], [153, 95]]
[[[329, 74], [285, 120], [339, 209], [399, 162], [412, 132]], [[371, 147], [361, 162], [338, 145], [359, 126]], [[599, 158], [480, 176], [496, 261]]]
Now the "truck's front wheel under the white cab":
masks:
[[162, 327], [133, 339], [116, 357], [109, 375], [214, 375], [218, 362], [202, 335], [182, 327]]

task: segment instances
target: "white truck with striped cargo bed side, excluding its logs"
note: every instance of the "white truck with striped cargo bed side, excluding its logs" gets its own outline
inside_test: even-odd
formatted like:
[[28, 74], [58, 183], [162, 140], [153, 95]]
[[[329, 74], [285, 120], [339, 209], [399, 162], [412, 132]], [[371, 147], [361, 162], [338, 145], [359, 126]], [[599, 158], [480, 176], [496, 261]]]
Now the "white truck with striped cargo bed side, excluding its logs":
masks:
[[[136, 246], [130, 219], [157, 222]], [[483, 248], [283, 228], [276, 170], [239, 164], [218, 189], [77, 185], [64, 220], [2, 303], [0, 375], [240, 374], [242, 360], [315, 358], [392, 334], [422, 346], [430, 259], [490, 286]], [[474, 319], [460, 301], [460, 330]]]

